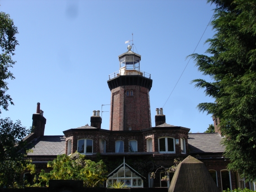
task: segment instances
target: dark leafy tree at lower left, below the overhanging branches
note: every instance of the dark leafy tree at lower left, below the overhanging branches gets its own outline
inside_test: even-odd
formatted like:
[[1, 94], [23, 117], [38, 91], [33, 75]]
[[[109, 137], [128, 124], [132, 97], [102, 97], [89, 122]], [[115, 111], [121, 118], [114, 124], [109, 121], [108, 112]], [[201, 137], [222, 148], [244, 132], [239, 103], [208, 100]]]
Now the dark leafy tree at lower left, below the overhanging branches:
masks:
[[22, 186], [20, 176], [29, 163], [24, 160], [26, 150], [21, 151], [26, 145], [22, 139], [29, 132], [20, 121], [0, 119], [0, 188]]

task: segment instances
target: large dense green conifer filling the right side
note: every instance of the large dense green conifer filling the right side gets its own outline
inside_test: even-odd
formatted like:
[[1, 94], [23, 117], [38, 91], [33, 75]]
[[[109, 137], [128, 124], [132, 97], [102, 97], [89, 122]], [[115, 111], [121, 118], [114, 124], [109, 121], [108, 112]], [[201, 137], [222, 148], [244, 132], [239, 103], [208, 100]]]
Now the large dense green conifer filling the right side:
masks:
[[256, 2], [255, 0], [208, 0], [216, 4], [207, 39], [207, 55], [192, 54], [196, 66], [212, 82], [195, 79], [214, 103], [200, 103], [198, 109], [220, 118], [225, 135], [228, 169], [256, 180]]

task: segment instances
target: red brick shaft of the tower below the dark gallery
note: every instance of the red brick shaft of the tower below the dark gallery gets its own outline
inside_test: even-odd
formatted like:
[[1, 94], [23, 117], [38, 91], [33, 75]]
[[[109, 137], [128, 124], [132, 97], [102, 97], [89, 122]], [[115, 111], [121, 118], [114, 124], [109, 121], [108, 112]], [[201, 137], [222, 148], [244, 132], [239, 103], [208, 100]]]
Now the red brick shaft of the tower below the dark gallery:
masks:
[[129, 127], [132, 130], [151, 127], [149, 90], [146, 87], [126, 85], [111, 90], [110, 130], [128, 131]]

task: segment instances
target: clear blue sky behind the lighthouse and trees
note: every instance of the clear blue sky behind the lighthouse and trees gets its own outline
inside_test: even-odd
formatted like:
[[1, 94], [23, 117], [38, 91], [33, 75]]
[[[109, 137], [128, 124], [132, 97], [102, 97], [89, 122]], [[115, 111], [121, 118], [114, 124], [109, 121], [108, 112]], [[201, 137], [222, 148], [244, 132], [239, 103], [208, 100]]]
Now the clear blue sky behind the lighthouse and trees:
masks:
[[[109, 111], [108, 75], [119, 70], [118, 56], [132, 39], [141, 55], [141, 70], [151, 74], [152, 125], [155, 109], [163, 107], [210, 21], [214, 5], [206, 0], [0, 0], [0, 11], [18, 27], [8, 94], [14, 106], [1, 118], [20, 119], [31, 127], [40, 102], [47, 119], [45, 135], [90, 125], [93, 110]], [[208, 26], [196, 53], [208, 48]], [[190, 84], [206, 79], [190, 60], [163, 108], [166, 122], [203, 132], [211, 115], [196, 106], [213, 101]], [[103, 106], [102, 108], [102, 104]], [[109, 129], [110, 113], [102, 114]]]

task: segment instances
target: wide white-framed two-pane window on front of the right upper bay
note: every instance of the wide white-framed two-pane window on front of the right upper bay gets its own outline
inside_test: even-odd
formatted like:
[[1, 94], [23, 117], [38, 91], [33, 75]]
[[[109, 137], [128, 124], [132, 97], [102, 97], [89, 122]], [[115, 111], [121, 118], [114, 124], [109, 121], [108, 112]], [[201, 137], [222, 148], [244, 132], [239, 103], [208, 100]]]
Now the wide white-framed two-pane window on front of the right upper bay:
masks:
[[174, 138], [162, 137], [158, 139], [159, 153], [175, 153]]

